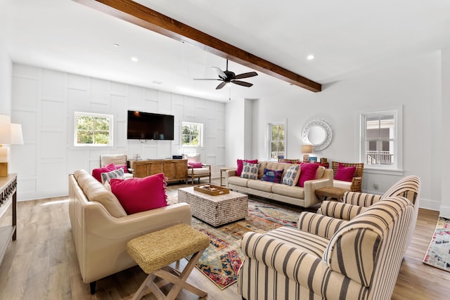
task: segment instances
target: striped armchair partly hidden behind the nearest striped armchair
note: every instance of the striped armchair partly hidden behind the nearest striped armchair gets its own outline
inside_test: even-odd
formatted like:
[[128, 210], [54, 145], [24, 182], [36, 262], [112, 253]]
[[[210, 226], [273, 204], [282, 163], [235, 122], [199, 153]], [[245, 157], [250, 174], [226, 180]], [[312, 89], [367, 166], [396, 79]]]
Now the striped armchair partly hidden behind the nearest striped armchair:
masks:
[[420, 195], [420, 178], [418, 176], [406, 176], [401, 178], [397, 183], [386, 191], [384, 195], [372, 195], [368, 193], [346, 192], [342, 202], [323, 201], [321, 207], [317, 211], [318, 214], [331, 216], [333, 218], [350, 220], [354, 216], [360, 214], [376, 202], [387, 199], [392, 196], [401, 196], [407, 198], [414, 206], [413, 216], [411, 220], [411, 229], [409, 231], [406, 249], [411, 243], [414, 228], [416, 228], [417, 215], [419, 210]]

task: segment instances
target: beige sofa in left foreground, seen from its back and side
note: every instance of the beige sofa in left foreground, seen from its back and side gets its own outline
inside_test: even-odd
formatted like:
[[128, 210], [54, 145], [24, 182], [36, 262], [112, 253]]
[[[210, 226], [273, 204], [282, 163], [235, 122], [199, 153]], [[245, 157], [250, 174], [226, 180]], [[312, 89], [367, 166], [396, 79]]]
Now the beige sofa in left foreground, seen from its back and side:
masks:
[[178, 223], [191, 224], [191, 206], [179, 203], [127, 215], [119, 200], [84, 170], [69, 175], [69, 215], [83, 282], [120, 272], [136, 262], [127, 254], [134, 237]]

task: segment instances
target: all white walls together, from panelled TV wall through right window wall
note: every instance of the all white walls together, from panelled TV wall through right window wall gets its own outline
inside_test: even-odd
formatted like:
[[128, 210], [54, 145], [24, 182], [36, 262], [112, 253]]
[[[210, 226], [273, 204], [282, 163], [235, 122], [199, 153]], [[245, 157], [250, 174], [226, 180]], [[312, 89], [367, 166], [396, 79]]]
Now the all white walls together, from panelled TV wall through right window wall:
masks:
[[[2, 61], [0, 56], [0, 62]], [[442, 70], [442, 72], [441, 72]], [[206, 147], [202, 159], [214, 166], [233, 166], [237, 158], [266, 159], [266, 122], [287, 119], [287, 158], [300, 157], [302, 129], [311, 119], [325, 119], [333, 130], [330, 146], [314, 155], [329, 161], [359, 160], [358, 112], [402, 105], [404, 109], [404, 172], [364, 175], [364, 190], [383, 193], [401, 176], [422, 178], [420, 207], [450, 210], [446, 201], [449, 171], [441, 149], [449, 138], [450, 51], [428, 53], [413, 60], [380, 65], [348, 79], [324, 86], [321, 93], [293, 93], [229, 103], [190, 98], [101, 79], [13, 66], [12, 117], [23, 124], [25, 145], [15, 146], [11, 171], [19, 174], [19, 199], [67, 193], [67, 174], [92, 169], [104, 150], [72, 146], [74, 110], [109, 112], [117, 122], [115, 148], [108, 152], [141, 153], [144, 158], [169, 157], [182, 152], [174, 142], [128, 142], [124, 138], [128, 108], [172, 113], [180, 124], [205, 122]], [[2, 75], [0, 75], [2, 76]], [[3, 75], [4, 76], [4, 75]], [[5, 84], [8, 78], [0, 78]], [[250, 101], [250, 102], [246, 102]], [[441, 113], [442, 112], [442, 113]], [[251, 114], [252, 124], [245, 122]], [[251, 127], [249, 130], [249, 126]], [[250, 134], [249, 134], [250, 132]], [[250, 135], [250, 138], [248, 137]], [[168, 143], [168, 144], [165, 144]], [[252, 154], [248, 156], [248, 149]], [[380, 188], [373, 188], [378, 181]], [[450, 215], [447, 212], [448, 215]]]

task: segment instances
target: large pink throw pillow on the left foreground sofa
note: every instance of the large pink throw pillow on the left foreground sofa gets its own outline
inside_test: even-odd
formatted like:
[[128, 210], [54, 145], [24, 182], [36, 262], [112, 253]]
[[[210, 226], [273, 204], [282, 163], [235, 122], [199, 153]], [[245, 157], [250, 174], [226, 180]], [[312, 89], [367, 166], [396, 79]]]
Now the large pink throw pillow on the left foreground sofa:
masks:
[[127, 214], [167, 206], [167, 181], [162, 173], [128, 180], [113, 178], [110, 185]]

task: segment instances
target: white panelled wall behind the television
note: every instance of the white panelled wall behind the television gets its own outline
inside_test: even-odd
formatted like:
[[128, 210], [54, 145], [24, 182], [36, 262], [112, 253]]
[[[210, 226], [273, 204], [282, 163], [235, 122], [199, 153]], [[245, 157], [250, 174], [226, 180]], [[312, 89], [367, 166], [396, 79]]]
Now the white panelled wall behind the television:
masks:
[[[11, 80], [10, 80], [11, 81]], [[91, 171], [104, 153], [139, 153], [143, 159], [172, 158], [184, 152], [180, 138], [174, 141], [127, 140], [127, 110], [174, 115], [175, 136], [181, 122], [200, 122], [205, 129], [202, 162], [225, 163], [225, 105], [139, 86], [13, 65], [12, 116], [22, 124], [25, 145], [11, 150], [10, 171], [18, 173], [18, 200], [68, 194], [68, 174]], [[98, 112], [114, 116], [114, 147], [74, 147], [74, 112]]]

